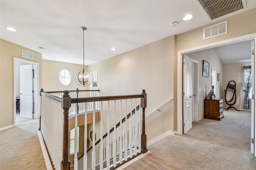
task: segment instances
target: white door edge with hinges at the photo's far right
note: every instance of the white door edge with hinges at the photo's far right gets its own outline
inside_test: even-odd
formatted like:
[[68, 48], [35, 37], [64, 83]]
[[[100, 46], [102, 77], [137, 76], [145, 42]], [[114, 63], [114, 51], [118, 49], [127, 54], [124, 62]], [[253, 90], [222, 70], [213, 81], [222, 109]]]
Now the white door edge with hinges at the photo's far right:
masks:
[[[255, 50], [255, 42], [252, 40], [252, 50]], [[255, 53], [255, 52], [254, 52]], [[252, 53], [252, 95], [255, 96], [255, 54]], [[256, 136], [256, 127], [255, 127], [255, 122], [256, 122], [256, 117], [255, 117], [255, 98], [252, 97], [252, 102], [251, 102], [251, 138], [254, 139], [254, 143], [251, 141], [251, 153], [254, 154], [256, 157], [256, 147], [255, 147], [255, 136]]]

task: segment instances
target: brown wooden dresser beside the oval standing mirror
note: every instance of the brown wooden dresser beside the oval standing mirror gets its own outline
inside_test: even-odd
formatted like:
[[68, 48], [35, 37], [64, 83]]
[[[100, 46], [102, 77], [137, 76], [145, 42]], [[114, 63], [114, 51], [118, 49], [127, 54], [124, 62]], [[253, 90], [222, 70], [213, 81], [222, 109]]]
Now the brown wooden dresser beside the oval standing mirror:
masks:
[[223, 115], [223, 99], [204, 99], [204, 118], [220, 121]]

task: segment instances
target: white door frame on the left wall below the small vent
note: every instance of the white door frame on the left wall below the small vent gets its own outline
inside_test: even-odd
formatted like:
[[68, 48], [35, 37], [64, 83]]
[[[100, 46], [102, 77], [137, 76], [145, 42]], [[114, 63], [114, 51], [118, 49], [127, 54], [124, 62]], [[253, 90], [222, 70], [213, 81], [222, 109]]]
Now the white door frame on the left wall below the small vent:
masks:
[[26, 59], [21, 59], [21, 58], [17, 58], [14, 57], [13, 58], [13, 101], [14, 101], [14, 126], [16, 126], [16, 81], [15, 81], [15, 77], [16, 77], [16, 62], [22, 62], [22, 63], [28, 63], [28, 64], [32, 64], [33, 65], [33, 69], [34, 71], [34, 111], [35, 111], [35, 115], [34, 115], [34, 119], [38, 119], [39, 117], [39, 106], [38, 106], [38, 100], [39, 100], [39, 63], [36, 63], [34, 61], [29, 61]]

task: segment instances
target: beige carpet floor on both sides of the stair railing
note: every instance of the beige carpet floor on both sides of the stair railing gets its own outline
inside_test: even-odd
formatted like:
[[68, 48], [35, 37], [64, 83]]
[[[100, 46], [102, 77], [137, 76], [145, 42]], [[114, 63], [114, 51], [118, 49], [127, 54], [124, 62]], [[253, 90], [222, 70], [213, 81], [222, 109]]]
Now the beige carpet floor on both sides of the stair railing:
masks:
[[[221, 121], [194, 122], [187, 134], [150, 146], [125, 170], [256, 170], [250, 153], [250, 112], [229, 110]], [[39, 120], [0, 131], [0, 170], [46, 170], [36, 130]], [[72, 160], [71, 160], [72, 161]]]

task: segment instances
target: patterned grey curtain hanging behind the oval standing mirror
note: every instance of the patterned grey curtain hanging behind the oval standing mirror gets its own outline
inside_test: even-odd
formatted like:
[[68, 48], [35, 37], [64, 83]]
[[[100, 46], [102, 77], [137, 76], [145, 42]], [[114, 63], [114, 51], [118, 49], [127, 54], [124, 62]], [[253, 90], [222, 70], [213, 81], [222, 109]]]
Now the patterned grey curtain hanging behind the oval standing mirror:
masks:
[[244, 66], [244, 109], [250, 109], [249, 93], [252, 87], [251, 65]]

